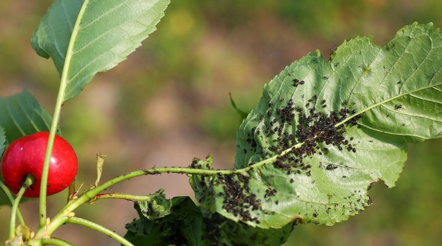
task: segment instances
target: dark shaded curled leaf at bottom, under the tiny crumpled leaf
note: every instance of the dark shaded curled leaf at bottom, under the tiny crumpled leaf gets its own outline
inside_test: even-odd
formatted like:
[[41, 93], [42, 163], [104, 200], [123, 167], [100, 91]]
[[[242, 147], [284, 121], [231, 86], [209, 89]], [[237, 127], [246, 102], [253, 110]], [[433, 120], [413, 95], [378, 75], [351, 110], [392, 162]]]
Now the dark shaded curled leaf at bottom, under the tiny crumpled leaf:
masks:
[[206, 245], [206, 234], [201, 211], [190, 197], [174, 197], [172, 213], [150, 220], [135, 206], [140, 219], [126, 224], [124, 236], [134, 245]]

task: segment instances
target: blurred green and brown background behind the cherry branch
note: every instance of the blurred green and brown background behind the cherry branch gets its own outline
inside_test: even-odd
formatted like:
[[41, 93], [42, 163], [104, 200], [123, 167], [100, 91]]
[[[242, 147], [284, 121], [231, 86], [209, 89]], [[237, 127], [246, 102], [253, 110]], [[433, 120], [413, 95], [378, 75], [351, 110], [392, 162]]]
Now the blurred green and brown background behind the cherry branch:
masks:
[[[52, 1], [0, 1], [0, 95], [27, 88], [52, 112], [58, 74], [37, 56], [30, 37]], [[95, 154], [108, 155], [102, 180], [153, 166], [188, 166], [193, 157], [215, 156], [215, 168], [231, 168], [240, 117], [230, 106], [250, 111], [263, 85], [292, 61], [345, 38], [373, 35], [383, 45], [415, 21], [442, 27], [440, 0], [172, 0], [158, 31], [117, 68], [98, 74], [80, 96], [68, 101], [63, 136], [80, 159], [77, 186], [95, 180]], [[442, 55], [442, 54], [441, 54]], [[333, 227], [294, 228], [286, 245], [441, 245], [442, 139], [410, 145], [397, 187], [378, 183], [373, 206]], [[146, 176], [113, 191], [168, 197], [193, 193], [183, 175]], [[48, 199], [50, 215], [66, 194]], [[22, 204], [36, 227], [38, 203]], [[0, 241], [7, 238], [9, 207], [0, 207]], [[124, 234], [136, 217], [127, 201], [84, 205], [80, 217]], [[55, 234], [76, 245], [117, 245], [76, 225]]]

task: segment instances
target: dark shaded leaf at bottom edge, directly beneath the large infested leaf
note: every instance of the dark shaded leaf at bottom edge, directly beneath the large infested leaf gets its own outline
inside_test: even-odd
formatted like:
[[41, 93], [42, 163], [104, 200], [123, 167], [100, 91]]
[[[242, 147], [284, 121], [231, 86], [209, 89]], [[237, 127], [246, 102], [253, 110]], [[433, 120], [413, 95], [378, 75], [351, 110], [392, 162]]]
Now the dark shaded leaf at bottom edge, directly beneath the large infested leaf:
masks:
[[243, 222], [234, 222], [219, 214], [205, 213], [208, 245], [282, 245], [290, 236], [293, 224], [281, 229], [253, 228]]

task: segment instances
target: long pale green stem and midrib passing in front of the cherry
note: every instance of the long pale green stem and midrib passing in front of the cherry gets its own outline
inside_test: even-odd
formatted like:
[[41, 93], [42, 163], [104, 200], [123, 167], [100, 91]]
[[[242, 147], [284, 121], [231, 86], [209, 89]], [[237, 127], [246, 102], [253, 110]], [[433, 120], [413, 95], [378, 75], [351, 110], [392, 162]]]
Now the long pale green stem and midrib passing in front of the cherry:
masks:
[[47, 182], [48, 182], [48, 173], [49, 173], [49, 161], [50, 156], [52, 153], [52, 147], [54, 138], [56, 135], [58, 123], [60, 120], [60, 111], [61, 107], [64, 103], [64, 96], [65, 96], [65, 90], [68, 83], [68, 71], [70, 66], [70, 61], [72, 58], [72, 49], [74, 45], [74, 41], [77, 37], [77, 33], [80, 27], [81, 17], [83, 16], [84, 10], [86, 9], [86, 6], [88, 4], [88, 0], [85, 0], [83, 3], [83, 6], [80, 9], [80, 12], [78, 13], [77, 21], [75, 23], [75, 26], [73, 26], [72, 34], [70, 36], [69, 45], [67, 47], [66, 51], [66, 59], [64, 61], [63, 66], [63, 72], [60, 79], [60, 88], [57, 96], [57, 102], [56, 106], [54, 108], [54, 113], [52, 116], [52, 124], [49, 132], [49, 139], [48, 139], [48, 145], [46, 148], [46, 155], [45, 160], [43, 162], [43, 170], [42, 170], [42, 181], [40, 183], [40, 200], [39, 200], [39, 221], [40, 221], [40, 228], [43, 228], [46, 224], [46, 189], [47, 189]]

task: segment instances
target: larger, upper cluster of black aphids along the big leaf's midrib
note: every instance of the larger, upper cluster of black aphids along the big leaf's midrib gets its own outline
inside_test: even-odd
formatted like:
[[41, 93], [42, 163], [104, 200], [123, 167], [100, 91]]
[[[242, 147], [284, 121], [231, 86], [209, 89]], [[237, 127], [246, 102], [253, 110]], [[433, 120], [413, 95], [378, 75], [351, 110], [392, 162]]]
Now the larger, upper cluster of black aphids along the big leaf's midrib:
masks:
[[[293, 79], [293, 86], [297, 86], [298, 81], [298, 79]], [[308, 99], [305, 104], [305, 111], [299, 106], [293, 106], [292, 99], [288, 100], [284, 108], [276, 109], [276, 117], [272, 119], [270, 110], [268, 110], [267, 117], [264, 119], [265, 127], [262, 128], [263, 135], [268, 139], [276, 134], [276, 138], [272, 139], [267, 150], [262, 152], [263, 156], [268, 157], [278, 154], [277, 160], [273, 162], [275, 168], [290, 170], [290, 173], [293, 168], [297, 168], [296, 172], [302, 173], [302, 171], [307, 171], [311, 167], [310, 165], [304, 165], [303, 159], [316, 153], [322, 155], [323, 152], [328, 152], [329, 149], [325, 147], [325, 145], [337, 146], [341, 151], [346, 149], [347, 151], [356, 153], [354, 146], [343, 136], [345, 133], [344, 126], [356, 126], [357, 121], [363, 115], [354, 115], [357, 111], [355, 109], [347, 109], [347, 104], [348, 102], [344, 101], [343, 108], [331, 111], [329, 114], [318, 112], [314, 105], [318, 105], [320, 108], [326, 108], [326, 100], [318, 101], [318, 95], [314, 95]], [[268, 107], [271, 108], [272, 105], [269, 104]], [[335, 127], [339, 122], [351, 115], [354, 116], [347, 120], [345, 124]], [[293, 135], [287, 131], [283, 131], [284, 124], [291, 126], [294, 124], [295, 119], [298, 121], [296, 134]], [[277, 122], [280, 124], [277, 124]], [[291, 131], [291, 127], [289, 131]], [[260, 133], [261, 130], [256, 130], [256, 127], [254, 127], [248, 133], [248, 138], [246, 139], [255, 153], [257, 149], [255, 134]], [[354, 138], [351, 137], [350, 141], [353, 139]], [[297, 143], [303, 143], [303, 145], [299, 148], [293, 148], [290, 152], [282, 155], [282, 151], [290, 149]], [[321, 144], [323, 146], [322, 148], [320, 147]], [[271, 154], [269, 151], [273, 153]], [[247, 153], [246, 149], [245, 153]], [[309, 175], [309, 172], [307, 172], [307, 175]]]

